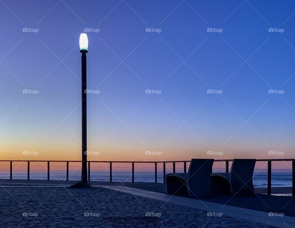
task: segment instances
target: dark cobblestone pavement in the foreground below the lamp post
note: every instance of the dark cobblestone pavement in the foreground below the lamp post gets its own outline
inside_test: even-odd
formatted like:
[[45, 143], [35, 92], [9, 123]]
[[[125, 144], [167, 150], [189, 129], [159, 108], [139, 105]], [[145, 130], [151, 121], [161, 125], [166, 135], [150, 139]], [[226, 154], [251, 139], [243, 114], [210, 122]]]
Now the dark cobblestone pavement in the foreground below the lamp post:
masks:
[[[0, 198], [0, 227], [271, 227], [101, 187], [2, 183]], [[112, 222], [122, 219], [129, 223]]]

